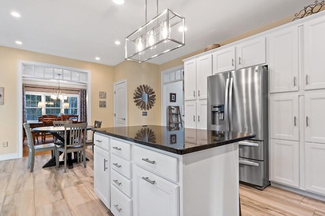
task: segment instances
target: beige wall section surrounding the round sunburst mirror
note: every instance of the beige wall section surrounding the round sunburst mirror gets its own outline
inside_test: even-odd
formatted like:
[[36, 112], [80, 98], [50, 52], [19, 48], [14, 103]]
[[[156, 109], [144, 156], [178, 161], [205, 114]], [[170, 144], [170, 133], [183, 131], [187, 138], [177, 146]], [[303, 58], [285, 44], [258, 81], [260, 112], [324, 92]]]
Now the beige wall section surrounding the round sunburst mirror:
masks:
[[[160, 125], [160, 71], [158, 65], [151, 63], [136, 63], [123, 61], [114, 67], [114, 82], [125, 79], [127, 82], [127, 125]], [[142, 116], [142, 111], [134, 102], [134, 91], [139, 85], [148, 85], [156, 94], [154, 106], [147, 110], [148, 115]]]

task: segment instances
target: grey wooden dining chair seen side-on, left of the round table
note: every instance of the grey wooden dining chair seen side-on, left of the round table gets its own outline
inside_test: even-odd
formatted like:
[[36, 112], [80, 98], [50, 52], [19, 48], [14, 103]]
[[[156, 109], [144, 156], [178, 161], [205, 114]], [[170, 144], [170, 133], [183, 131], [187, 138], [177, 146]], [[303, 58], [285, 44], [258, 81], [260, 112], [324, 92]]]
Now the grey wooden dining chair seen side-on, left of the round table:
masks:
[[35, 163], [35, 152], [42, 151], [51, 151], [52, 157], [54, 156], [54, 152], [56, 151], [56, 145], [54, 143], [34, 145], [34, 140], [32, 139], [30, 125], [28, 123], [24, 123], [25, 132], [28, 140], [28, 164], [27, 167], [29, 171], [32, 172], [34, 170]]

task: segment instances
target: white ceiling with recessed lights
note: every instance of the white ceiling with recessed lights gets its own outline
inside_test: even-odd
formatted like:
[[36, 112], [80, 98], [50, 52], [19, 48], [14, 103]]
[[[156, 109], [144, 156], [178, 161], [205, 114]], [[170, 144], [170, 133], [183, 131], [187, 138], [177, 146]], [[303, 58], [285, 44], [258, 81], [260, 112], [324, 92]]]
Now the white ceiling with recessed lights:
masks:
[[[180, 14], [188, 30], [184, 47], [148, 62], [163, 64], [297, 13], [313, 2], [159, 0], [159, 13], [169, 8]], [[114, 66], [124, 60], [124, 38], [145, 23], [144, 5], [144, 0], [126, 0], [123, 5], [112, 0], [0, 0], [0, 45]], [[155, 0], [148, 0], [148, 20], [156, 15], [155, 6]], [[21, 17], [11, 16], [13, 11]]]

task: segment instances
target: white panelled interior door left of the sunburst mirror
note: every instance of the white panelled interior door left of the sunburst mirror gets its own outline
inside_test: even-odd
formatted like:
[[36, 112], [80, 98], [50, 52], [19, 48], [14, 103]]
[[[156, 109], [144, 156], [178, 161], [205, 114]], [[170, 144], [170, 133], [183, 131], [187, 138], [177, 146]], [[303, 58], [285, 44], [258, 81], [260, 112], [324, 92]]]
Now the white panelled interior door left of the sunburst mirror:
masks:
[[127, 125], [126, 80], [114, 82], [114, 127]]

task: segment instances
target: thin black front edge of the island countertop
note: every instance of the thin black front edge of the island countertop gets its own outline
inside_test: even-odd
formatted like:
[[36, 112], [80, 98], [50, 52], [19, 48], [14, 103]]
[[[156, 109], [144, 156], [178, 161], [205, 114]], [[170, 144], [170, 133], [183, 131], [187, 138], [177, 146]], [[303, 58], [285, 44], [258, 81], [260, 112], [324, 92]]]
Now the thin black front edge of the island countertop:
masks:
[[140, 140], [136, 140], [134, 138], [124, 137], [124, 136], [120, 136], [120, 135], [116, 135], [116, 134], [111, 134], [111, 133], [108, 133], [106, 131], [100, 131], [100, 130], [97, 130], [97, 129], [91, 129], [91, 131], [94, 131], [94, 132], [99, 133], [99, 134], [104, 134], [104, 135], [108, 135], [108, 136], [111, 136], [111, 137], [119, 138], [119, 139], [122, 139], [122, 140], [126, 140], [126, 141], [129, 141], [129, 142], [142, 144], [142, 145], [149, 146], [149, 147], [152, 147], [152, 148], [155, 148], [155, 149], [160, 149], [160, 150], [172, 152], [172, 153], [175, 153], [175, 154], [180, 154], [180, 155], [188, 154], [188, 153], [192, 153], [192, 152], [197, 152], [197, 151], [201, 151], [201, 150], [205, 150], [205, 149], [210, 149], [210, 148], [214, 148], [214, 147], [218, 147], [218, 146], [223, 146], [223, 145], [226, 145], [226, 144], [236, 143], [236, 142], [243, 141], [243, 140], [249, 140], [249, 139], [252, 139], [252, 138], [255, 137], [255, 135], [249, 135], [249, 136], [245, 136], [245, 137], [241, 137], [241, 138], [235, 138], [235, 139], [231, 139], [231, 140], [227, 140], [227, 141], [219, 141], [217, 143], [194, 146], [194, 147], [191, 147], [191, 148], [188, 148], [188, 149], [176, 149], [176, 148], [171, 148], [169, 146], [163, 146], [163, 145], [159, 145], [159, 144], [156, 144], [156, 143], [150, 143], [150, 142], [143, 142], [143, 141], [140, 141]]

